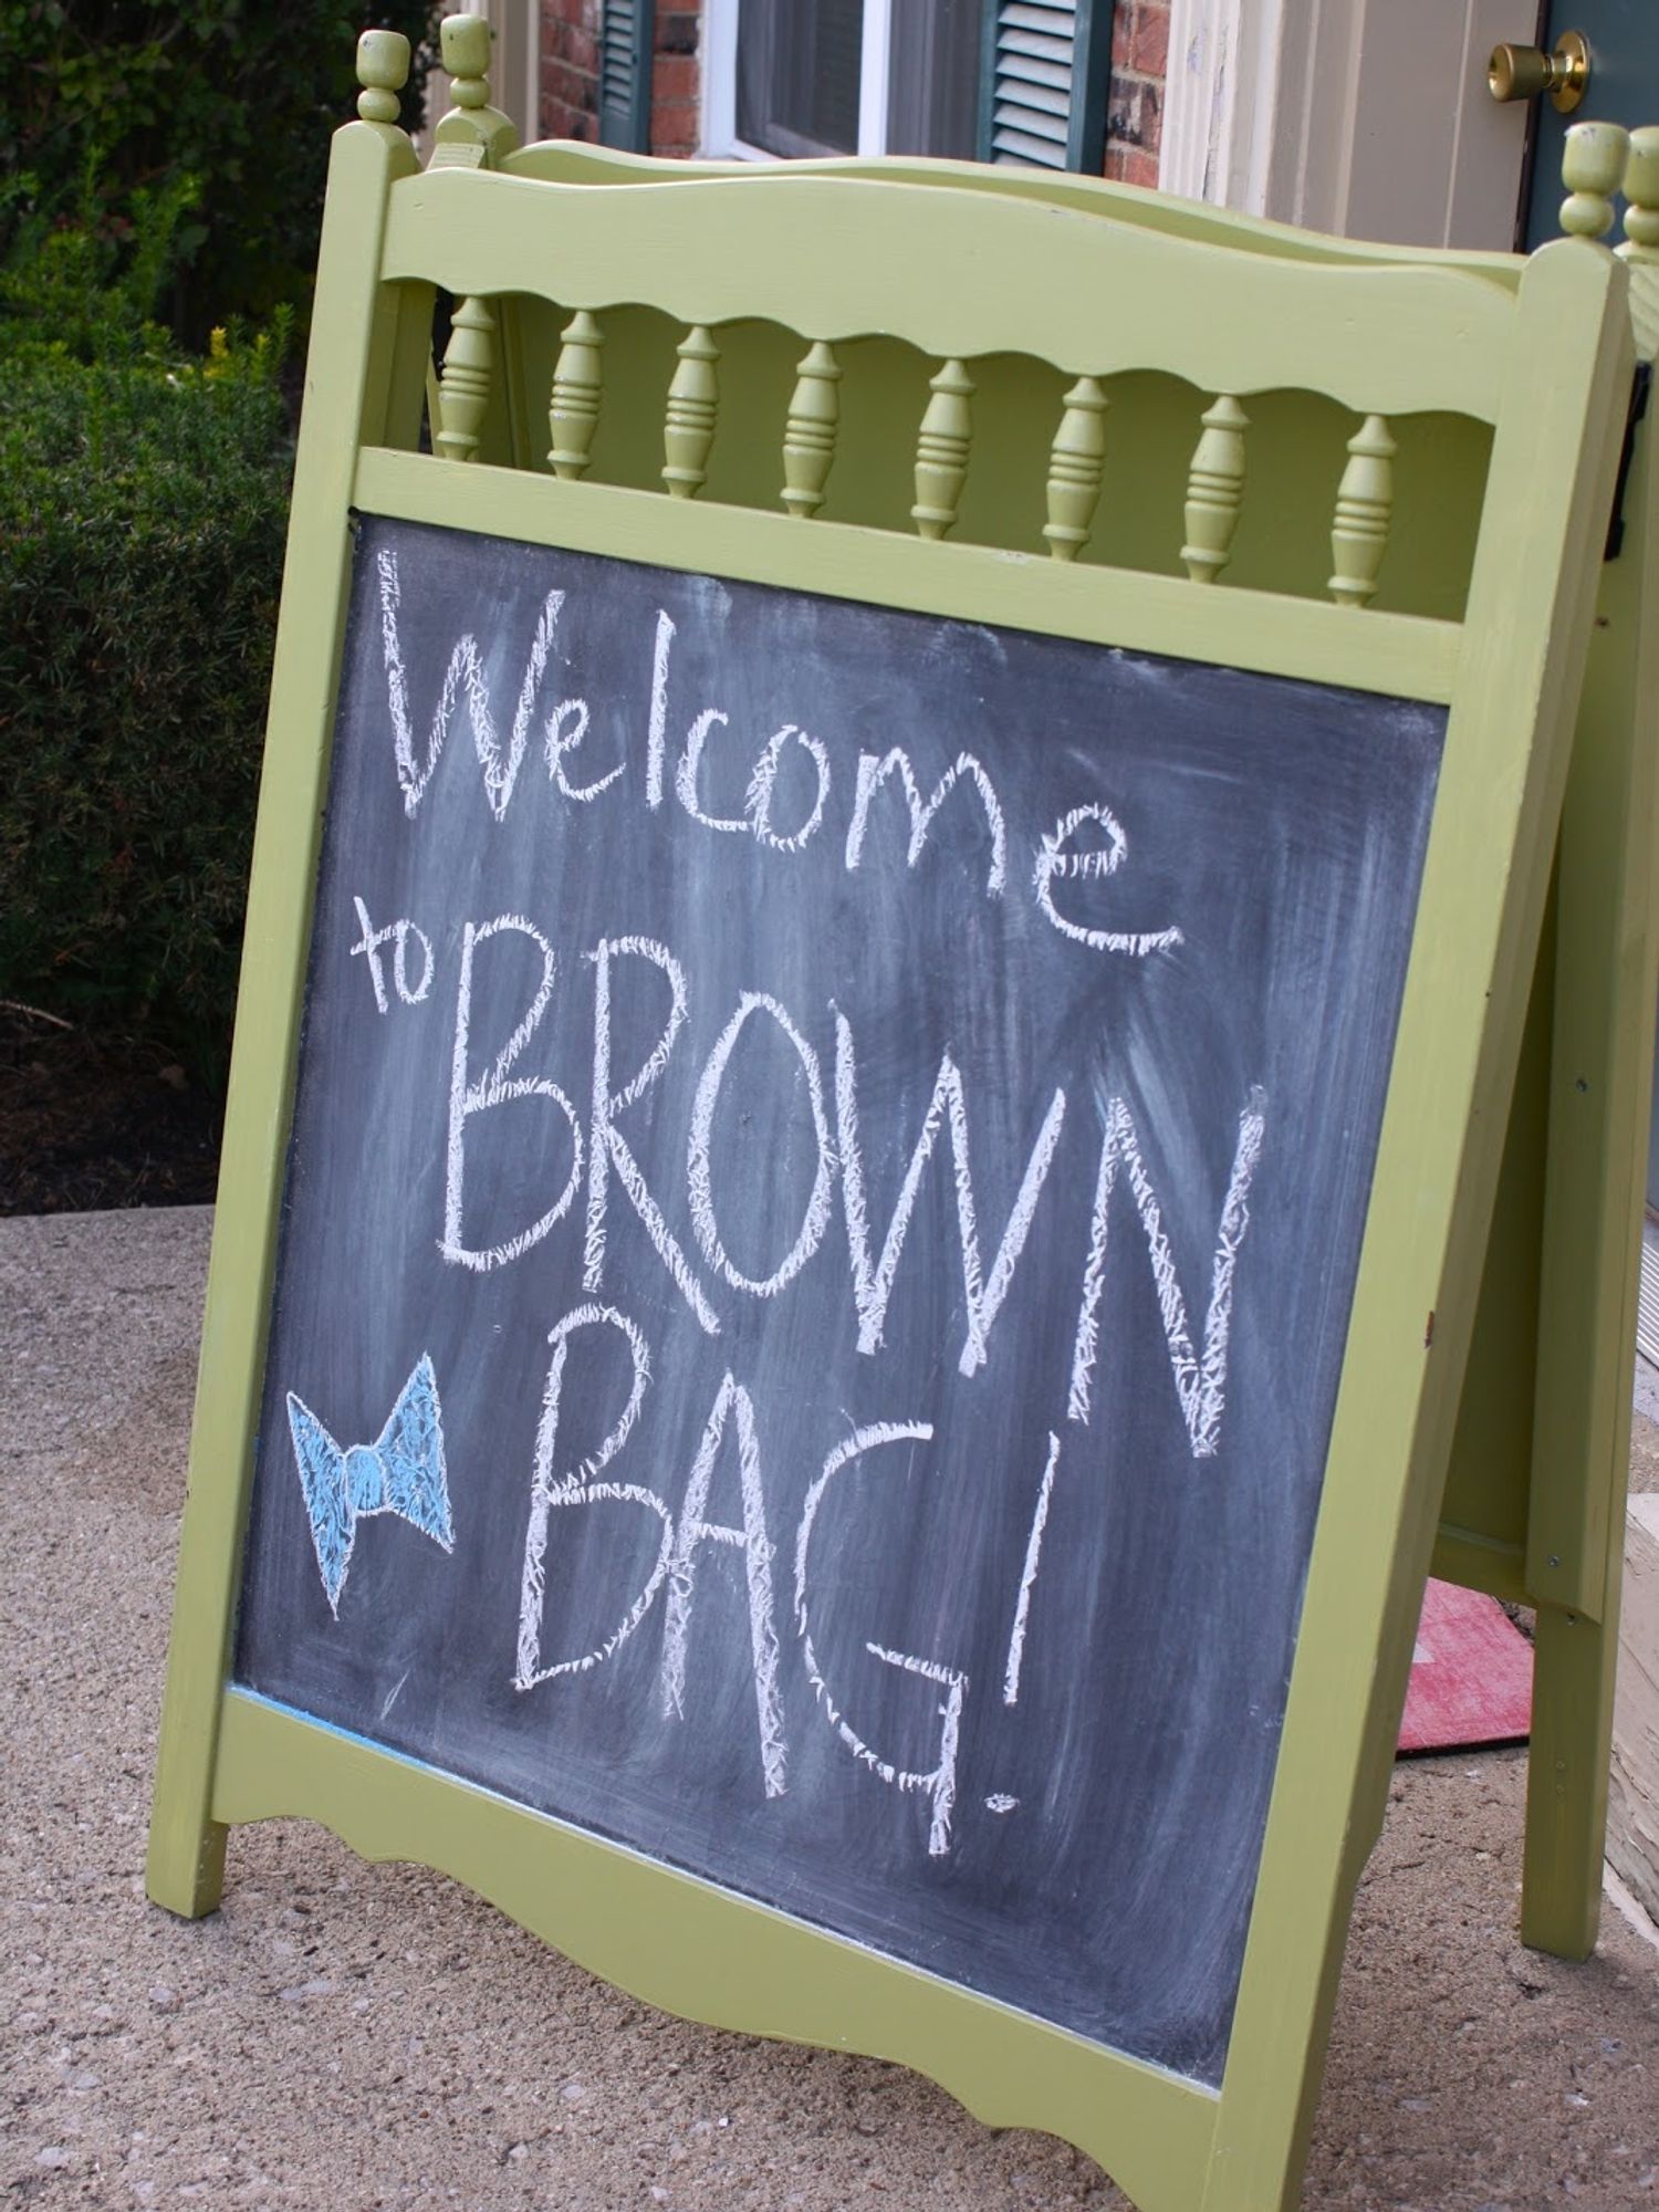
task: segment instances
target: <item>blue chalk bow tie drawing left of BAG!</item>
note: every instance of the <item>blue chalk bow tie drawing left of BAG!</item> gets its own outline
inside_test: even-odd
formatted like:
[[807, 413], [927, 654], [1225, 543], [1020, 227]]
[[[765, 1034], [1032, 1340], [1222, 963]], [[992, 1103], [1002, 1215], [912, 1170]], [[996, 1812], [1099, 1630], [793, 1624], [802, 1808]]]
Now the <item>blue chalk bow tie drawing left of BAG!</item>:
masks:
[[445, 1480], [445, 1431], [438, 1378], [431, 1360], [420, 1363], [403, 1385], [385, 1429], [372, 1444], [341, 1449], [312, 1409], [288, 1394], [288, 1429], [312, 1522], [316, 1564], [330, 1613], [338, 1619], [345, 1571], [352, 1564], [356, 1524], [369, 1513], [396, 1513], [445, 1551], [453, 1551]]

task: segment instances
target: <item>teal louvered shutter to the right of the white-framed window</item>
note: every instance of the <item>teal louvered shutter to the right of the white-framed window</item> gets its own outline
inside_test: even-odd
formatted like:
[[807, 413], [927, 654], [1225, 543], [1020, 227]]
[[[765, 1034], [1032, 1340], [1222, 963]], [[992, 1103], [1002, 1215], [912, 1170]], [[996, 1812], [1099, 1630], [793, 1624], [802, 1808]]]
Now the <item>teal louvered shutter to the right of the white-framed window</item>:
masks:
[[980, 159], [1097, 177], [1110, 73], [1110, 0], [987, 0]]

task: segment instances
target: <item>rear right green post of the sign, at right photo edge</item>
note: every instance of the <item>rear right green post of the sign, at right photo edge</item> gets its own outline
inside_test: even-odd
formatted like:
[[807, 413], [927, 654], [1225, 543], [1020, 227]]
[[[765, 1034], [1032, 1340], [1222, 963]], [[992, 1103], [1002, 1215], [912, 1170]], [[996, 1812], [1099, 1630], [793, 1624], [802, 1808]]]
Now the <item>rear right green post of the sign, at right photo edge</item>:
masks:
[[[1568, 131], [1564, 223], [1599, 232], [1624, 173], [1637, 352], [1659, 338], [1659, 131]], [[1604, 564], [1562, 816], [1555, 1042], [1526, 1582], [1540, 1599], [1522, 1940], [1588, 1958], [1601, 1909], [1630, 1358], [1659, 927], [1659, 482], [1637, 434]]]

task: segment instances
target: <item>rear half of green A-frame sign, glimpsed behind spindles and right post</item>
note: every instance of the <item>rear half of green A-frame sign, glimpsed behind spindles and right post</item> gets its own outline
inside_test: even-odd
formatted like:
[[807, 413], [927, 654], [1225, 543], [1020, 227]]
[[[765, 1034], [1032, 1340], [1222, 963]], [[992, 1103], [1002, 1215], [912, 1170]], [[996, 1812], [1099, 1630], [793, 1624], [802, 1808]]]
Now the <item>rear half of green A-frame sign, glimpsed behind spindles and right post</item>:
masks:
[[[549, 184], [666, 184], [690, 177], [752, 177], [748, 164], [653, 161], [575, 144], [513, 153], [513, 175]], [[1261, 241], [1263, 250], [1327, 265], [1387, 265], [1422, 254], [1354, 239], [1327, 239], [1256, 217], [1219, 212], [1093, 179], [982, 164], [823, 161], [794, 173], [887, 177], [894, 184], [1037, 199], [1164, 237], [1210, 243]], [[1599, 239], [1615, 228], [1615, 197], [1628, 201], [1617, 252], [1630, 274], [1637, 361], [1659, 349], [1659, 248], [1644, 243], [1659, 210], [1659, 128], [1626, 133], [1582, 122], [1566, 133], [1562, 228]], [[1436, 265], [1480, 274], [1513, 290], [1524, 261], [1513, 254], [1436, 254]], [[520, 319], [522, 361], [513, 392], [533, 392], [551, 372], [553, 334]], [[759, 332], [743, 343], [761, 345]], [[874, 367], [874, 363], [872, 363]], [[1002, 394], [1004, 409], [1029, 389]], [[1190, 442], [1186, 416], [1157, 425], [1177, 460]], [[1411, 449], [1411, 431], [1422, 445]], [[1157, 445], [1137, 425], [1144, 465]], [[1396, 425], [1400, 476], [1433, 482], [1416, 526], [1396, 511], [1378, 604], [1455, 615], [1467, 586], [1489, 440], [1469, 418]], [[1042, 420], [1037, 436], [1046, 436]], [[498, 409], [491, 458], [529, 465], [529, 420]], [[1307, 568], [1314, 518], [1292, 520], [1327, 495], [1318, 451], [1294, 418], [1252, 409], [1254, 467], [1272, 476], [1285, 529], [1234, 549], [1228, 573], [1272, 591], [1314, 591]], [[646, 403], [626, 438], [611, 445], [619, 480], [646, 482], [657, 422]], [[1011, 440], [1013, 445], [1013, 440]], [[1433, 1573], [1537, 1613], [1526, 1854], [1524, 1942], [1559, 1958], [1588, 1958], [1601, 1909], [1613, 1663], [1617, 1655], [1624, 1493], [1630, 1449], [1628, 1371], [1635, 1347], [1641, 1159], [1648, 1126], [1648, 1029], [1659, 987], [1659, 902], [1652, 847], [1659, 832], [1659, 637], [1655, 551], [1659, 513], [1650, 425], [1637, 411], [1621, 478], [1617, 544], [1608, 533], [1595, 628], [1579, 697], [1573, 763], [1562, 805], [1555, 896], [1533, 971], [1522, 1057], [1509, 1106], [1504, 1164], [1493, 1210], [1462, 1405], [1433, 1544]], [[1024, 458], [991, 456], [1004, 476], [987, 504], [1018, 507]], [[1124, 467], [1130, 467], [1124, 462]], [[1624, 465], [1621, 465], [1624, 467]], [[989, 471], [987, 471], [989, 473]], [[728, 498], [763, 504], [770, 484], [726, 478]], [[883, 513], [874, 462], [856, 513]], [[885, 518], [885, 513], [883, 513]], [[1157, 498], [1117, 509], [1126, 564], [1159, 562]], [[896, 520], [896, 518], [894, 518]]]

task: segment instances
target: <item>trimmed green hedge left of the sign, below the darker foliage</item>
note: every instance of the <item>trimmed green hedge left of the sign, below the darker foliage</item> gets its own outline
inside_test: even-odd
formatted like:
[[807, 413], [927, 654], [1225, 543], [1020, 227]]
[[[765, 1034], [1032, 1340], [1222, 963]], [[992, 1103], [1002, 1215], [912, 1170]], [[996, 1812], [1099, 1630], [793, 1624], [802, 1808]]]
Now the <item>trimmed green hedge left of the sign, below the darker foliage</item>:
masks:
[[[55, 279], [86, 274], [77, 252]], [[215, 332], [190, 363], [131, 312], [93, 327], [102, 358], [11, 327], [0, 998], [146, 1029], [217, 1084], [288, 513], [283, 330]]]

